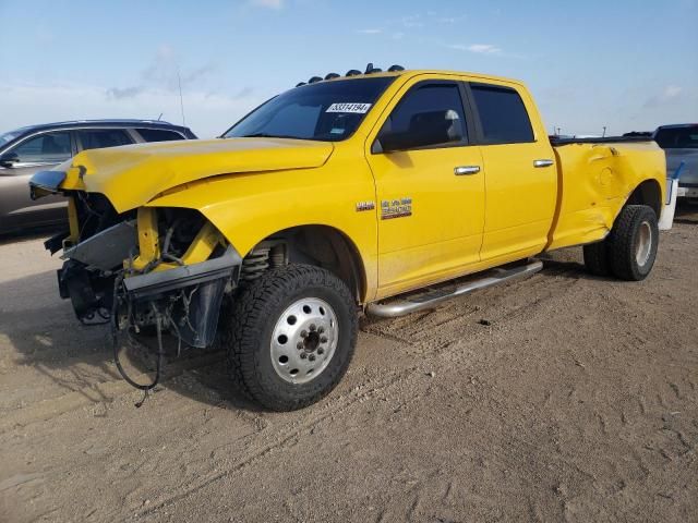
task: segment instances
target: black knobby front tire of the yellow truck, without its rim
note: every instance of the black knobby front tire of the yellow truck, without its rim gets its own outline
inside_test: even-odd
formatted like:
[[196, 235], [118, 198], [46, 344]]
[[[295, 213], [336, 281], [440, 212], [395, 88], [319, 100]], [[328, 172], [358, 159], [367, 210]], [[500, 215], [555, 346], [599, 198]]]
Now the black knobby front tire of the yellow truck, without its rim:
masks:
[[[288, 382], [272, 363], [270, 343], [284, 311], [301, 299], [323, 300], [337, 318], [338, 340], [327, 367], [304, 384]], [[241, 289], [232, 314], [221, 317], [221, 344], [234, 388], [264, 408], [293, 411], [320, 401], [347, 372], [357, 342], [357, 306], [347, 285], [310, 265], [273, 269]]]

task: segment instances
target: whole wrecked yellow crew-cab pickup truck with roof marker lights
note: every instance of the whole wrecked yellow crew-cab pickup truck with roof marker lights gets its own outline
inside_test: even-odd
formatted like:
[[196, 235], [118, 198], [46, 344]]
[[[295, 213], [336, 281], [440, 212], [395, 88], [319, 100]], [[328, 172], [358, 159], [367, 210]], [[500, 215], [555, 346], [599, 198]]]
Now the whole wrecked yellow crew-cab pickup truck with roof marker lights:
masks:
[[[209, 141], [87, 150], [37, 173], [70, 198], [62, 297], [121, 336], [218, 340], [268, 409], [327, 394], [357, 317], [398, 316], [540, 270], [642, 280], [657, 255], [653, 142], [549, 137], [520, 82], [372, 65], [314, 76]], [[119, 364], [119, 343], [115, 357]], [[232, 384], [231, 384], [232, 385]]]

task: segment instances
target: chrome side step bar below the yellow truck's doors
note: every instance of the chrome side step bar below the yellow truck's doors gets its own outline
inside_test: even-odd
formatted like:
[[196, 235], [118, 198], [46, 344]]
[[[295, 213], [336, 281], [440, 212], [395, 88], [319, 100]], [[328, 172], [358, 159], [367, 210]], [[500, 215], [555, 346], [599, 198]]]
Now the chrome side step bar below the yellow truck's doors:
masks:
[[518, 278], [525, 278], [534, 275], [542, 268], [543, 263], [540, 260], [534, 260], [530, 262], [529, 264], [520, 265], [513, 268], [493, 269], [493, 271], [495, 272], [494, 276], [457, 284], [453, 290], [430, 291], [420, 295], [416, 295], [414, 297], [405, 297], [401, 300], [398, 299], [388, 303], [370, 303], [366, 307], [366, 313], [373, 316], [380, 316], [382, 318], [396, 318], [398, 316], [405, 316], [407, 314], [423, 311], [425, 308], [433, 308], [438, 303], [452, 297], [460, 296], [472, 291], [486, 289], [488, 287], [497, 285], [500, 283], [505, 283]]

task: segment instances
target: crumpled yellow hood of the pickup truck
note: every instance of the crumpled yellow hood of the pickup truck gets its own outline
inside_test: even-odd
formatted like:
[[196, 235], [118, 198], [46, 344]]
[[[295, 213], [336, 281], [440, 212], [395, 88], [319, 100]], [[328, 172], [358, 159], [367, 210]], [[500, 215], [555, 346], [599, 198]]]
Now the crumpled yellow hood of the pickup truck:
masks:
[[321, 167], [333, 148], [305, 139], [226, 138], [85, 150], [70, 161], [61, 188], [101, 193], [123, 212], [209, 177]]

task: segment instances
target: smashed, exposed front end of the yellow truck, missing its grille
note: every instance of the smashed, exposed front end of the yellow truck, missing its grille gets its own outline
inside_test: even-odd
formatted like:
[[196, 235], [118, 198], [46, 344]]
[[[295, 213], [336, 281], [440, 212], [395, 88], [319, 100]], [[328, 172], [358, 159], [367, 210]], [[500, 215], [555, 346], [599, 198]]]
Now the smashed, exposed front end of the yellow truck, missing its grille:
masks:
[[[38, 177], [32, 194], [58, 191], [59, 178]], [[118, 214], [101, 194], [63, 192], [70, 231], [46, 247], [63, 250], [59, 291], [77, 318], [129, 333], [168, 330], [188, 345], [210, 346], [224, 294], [237, 287], [241, 267], [222, 234], [194, 209]]]

